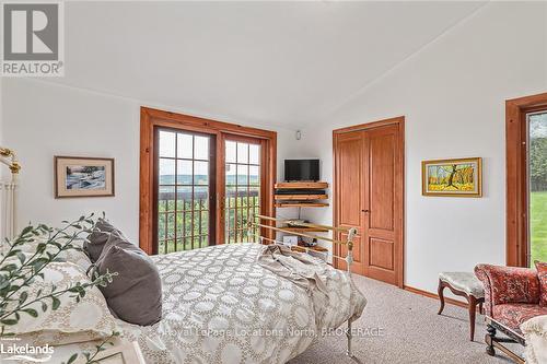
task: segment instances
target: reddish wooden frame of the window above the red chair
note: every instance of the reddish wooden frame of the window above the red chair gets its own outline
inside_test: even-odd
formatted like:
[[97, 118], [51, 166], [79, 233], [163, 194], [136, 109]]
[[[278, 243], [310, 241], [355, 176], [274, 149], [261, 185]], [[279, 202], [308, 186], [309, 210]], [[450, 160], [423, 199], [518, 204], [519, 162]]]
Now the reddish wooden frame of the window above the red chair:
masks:
[[505, 101], [505, 259], [525, 267], [528, 254], [526, 114], [547, 108], [547, 93]]

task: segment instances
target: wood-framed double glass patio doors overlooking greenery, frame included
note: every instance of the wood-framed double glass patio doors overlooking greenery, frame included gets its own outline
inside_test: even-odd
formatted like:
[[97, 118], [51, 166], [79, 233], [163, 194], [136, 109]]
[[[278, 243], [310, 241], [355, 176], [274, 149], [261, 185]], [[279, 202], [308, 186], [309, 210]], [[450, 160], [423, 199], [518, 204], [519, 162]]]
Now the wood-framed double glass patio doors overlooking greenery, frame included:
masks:
[[142, 108], [140, 246], [149, 254], [254, 242], [274, 215], [276, 133]]

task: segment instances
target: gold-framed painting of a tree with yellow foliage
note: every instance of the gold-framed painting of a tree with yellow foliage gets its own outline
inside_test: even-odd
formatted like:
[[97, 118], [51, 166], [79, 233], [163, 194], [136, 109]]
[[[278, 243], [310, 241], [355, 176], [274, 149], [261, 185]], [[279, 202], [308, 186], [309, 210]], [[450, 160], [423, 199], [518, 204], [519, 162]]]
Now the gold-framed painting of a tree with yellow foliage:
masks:
[[482, 196], [482, 158], [421, 162], [423, 196]]

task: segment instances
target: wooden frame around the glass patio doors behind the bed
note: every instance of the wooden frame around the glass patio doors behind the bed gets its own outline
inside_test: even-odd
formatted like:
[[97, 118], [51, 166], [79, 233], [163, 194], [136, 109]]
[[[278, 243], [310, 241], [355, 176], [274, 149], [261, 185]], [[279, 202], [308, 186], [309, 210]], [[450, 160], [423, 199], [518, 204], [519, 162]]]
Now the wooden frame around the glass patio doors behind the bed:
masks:
[[[277, 132], [235, 124], [210, 120], [196, 116], [164, 111], [150, 107], [140, 108], [140, 200], [139, 200], [139, 246], [147, 253], [153, 251], [153, 199], [154, 199], [154, 128], [166, 127], [216, 136], [217, 145], [226, 134], [251, 137], [263, 140], [263, 163], [265, 163], [266, 180], [261, 183], [263, 213], [275, 216], [274, 184], [277, 176]], [[224, 150], [217, 148], [217, 161], [224, 161]], [[217, 193], [224, 189], [224, 179], [220, 178], [224, 166], [217, 168]], [[219, 209], [217, 198], [217, 209]], [[217, 219], [216, 230], [223, 227], [223, 221]], [[266, 237], [272, 231], [268, 230]], [[223, 242], [220, 242], [223, 243]]]

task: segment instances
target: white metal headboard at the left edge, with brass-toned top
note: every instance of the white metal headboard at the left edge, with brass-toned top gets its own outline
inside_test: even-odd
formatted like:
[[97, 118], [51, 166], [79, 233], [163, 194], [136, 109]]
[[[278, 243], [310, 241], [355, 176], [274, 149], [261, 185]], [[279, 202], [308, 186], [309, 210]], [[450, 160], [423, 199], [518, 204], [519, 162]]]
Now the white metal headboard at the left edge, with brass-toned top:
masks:
[[8, 166], [11, 173], [9, 180], [0, 180], [0, 248], [3, 247], [5, 238], [12, 238], [16, 234], [16, 187], [18, 174], [21, 165], [16, 161], [15, 153], [7, 148], [0, 146], [0, 164]]

